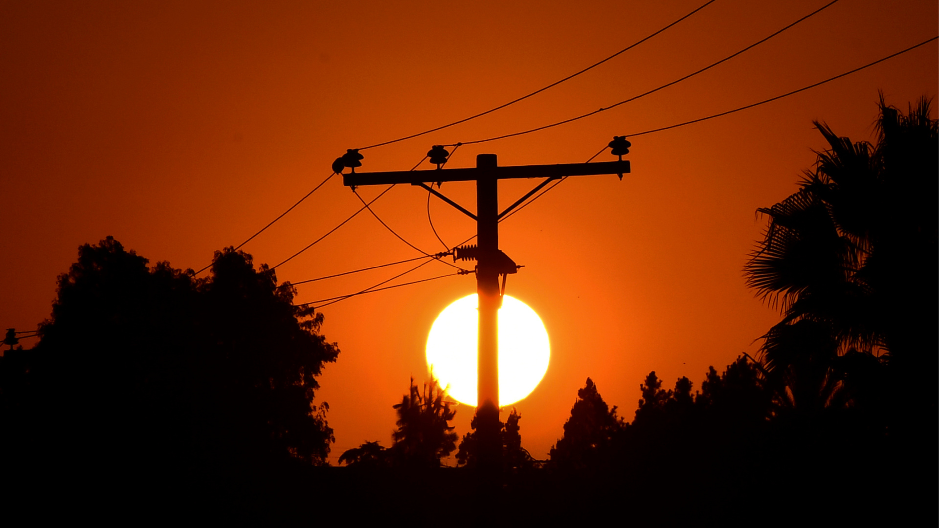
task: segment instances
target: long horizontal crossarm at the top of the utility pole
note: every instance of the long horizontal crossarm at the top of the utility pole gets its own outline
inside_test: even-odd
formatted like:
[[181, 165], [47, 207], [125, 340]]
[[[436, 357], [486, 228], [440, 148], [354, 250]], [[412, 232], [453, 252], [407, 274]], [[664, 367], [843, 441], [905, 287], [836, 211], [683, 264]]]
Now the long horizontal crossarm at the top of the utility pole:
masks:
[[569, 176], [598, 176], [602, 174], [627, 174], [629, 161], [600, 163], [557, 163], [553, 165], [508, 165], [503, 167], [468, 167], [456, 169], [430, 169], [391, 172], [356, 172], [343, 175], [346, 187], [360, 185], [391, 185], [410, 183], [420, 185], [430, 181], [476, 181], [482, 173], [496, 179], [550, 178]]

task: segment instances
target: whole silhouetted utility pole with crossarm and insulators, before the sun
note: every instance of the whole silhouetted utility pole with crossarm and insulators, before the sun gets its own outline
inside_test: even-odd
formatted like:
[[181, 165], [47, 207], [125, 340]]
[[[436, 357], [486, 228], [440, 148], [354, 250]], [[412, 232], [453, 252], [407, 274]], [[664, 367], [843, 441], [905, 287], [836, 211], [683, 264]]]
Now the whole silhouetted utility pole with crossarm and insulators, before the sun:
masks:
[[[613, 144], [610, 144], [610, 147], [614, 147]], [[628, 143], [623, 146], [623, 148], [625, 147], [628, 147]], [[443, 157], [435, 158], [435, 152], [438, 155], [442, 154]], [[625, 152], [628, 152], [628, 149], [625, 149]], [[617, 154], [619, 152], [614, 148], [613, 153]], [[438, 163], [437, 169], [356, 173], [354, 167], [361, 166], [358, 160], [362, 159], [362, 155], [358, 154], [357, 151], [349, 150], [349, 153], [344, 156], [347, 159], [345, 166], [353, 167], [353, 172], [343, 175], [343, 183], [353, 188], [360, 185], [389, 185], [393, 183], [417, 185], [435, 194], [456, 210], [476, 221], [476, 236], [479, 245], [454, 248], [454, 258], [477, 261], [476, 291], [479, 297], [479, 349], [477, 352], [476, 416], [478, 418], [478, 427], [476, 428], [476, 434], [479, 442], [481, 474], [484, 480], [489, 483], [496, 483], [501, 472], [502, 455], [499, 421], [499, 308], [502, 304], [504, 291], [500, 290], [499, 278], [502, 277], [502, 287], [504, 287], [505, 275], [517, 272], [518, 268], [516, 263], [499, 249], [499, 221], [508, 212], [515, 210], [516, 207], [531, 195], [543, 189], [551, 181], [570, 176], [596, 176], [602, 174], [617, 174], [622, 179], [623, 174], [629, 173], [630, 166], [628, 161], [623, 160], [622, 154], [618, 162], [505, 167], [499, 166], [495, 154], [479, 154], [476, 156], [475, 168], [443, 169], [440, 168], [440, 164], [445, 163], [447, 153], [442, 147], [435, 146], [428, 155], [431, 157], [431, 163]], [[342, 158], [336, 160], [336, 163], [341, 163], [342, 160]], [[341, 170], [342, 166], [342, 164], [339, 164], [338, 168]], [[334, 164], [333, 170], [336, 168], [337, 165]], [[545, 178], [545, 180], [528, 194], [516, 200], [506, 210], [499, 212], [499, 180], [521, 178]], [[476, 213], [473, 214], [436, 191], [432, 187], [435, 181], [438, 183], [443, 181], [475, 181]], [[427, 185], [428, 183], [431, 185]]]

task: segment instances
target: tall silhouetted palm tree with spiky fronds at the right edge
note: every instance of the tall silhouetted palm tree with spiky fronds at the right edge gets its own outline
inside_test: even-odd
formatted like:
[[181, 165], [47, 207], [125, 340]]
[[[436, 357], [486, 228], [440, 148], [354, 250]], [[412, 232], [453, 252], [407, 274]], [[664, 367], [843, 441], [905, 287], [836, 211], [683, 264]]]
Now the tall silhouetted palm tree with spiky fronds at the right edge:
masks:
[[[939, 366], [939, 134], [930, 103], [904, 116], [882, 94], [876, 145], [815, 121], [829, 146], [815, 170], [798, 192], [758, 210], [770, 222], [747, 262], [747, 285], [782, 313], [761, 351], [791, 405], [846, 401], [837, 397], [851, 385], [842, 366], [858, 363], [841, 361], [848, 352], [877, 356], [906, 382]], [[920, 396], [933, 401], [935, 391]]]

